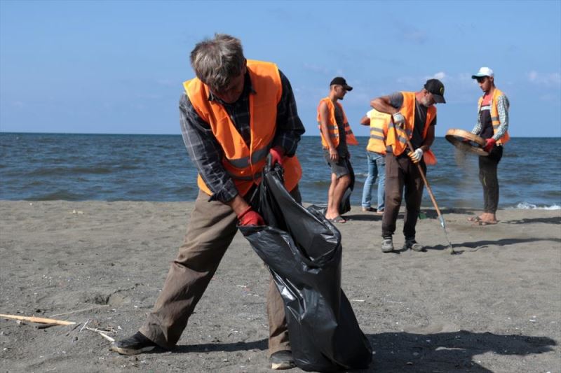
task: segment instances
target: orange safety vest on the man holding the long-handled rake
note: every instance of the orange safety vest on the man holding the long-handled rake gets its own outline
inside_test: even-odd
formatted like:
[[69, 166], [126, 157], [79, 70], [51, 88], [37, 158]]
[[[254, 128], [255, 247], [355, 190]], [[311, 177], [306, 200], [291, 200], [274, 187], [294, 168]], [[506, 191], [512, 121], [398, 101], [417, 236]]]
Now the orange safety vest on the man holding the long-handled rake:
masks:
[[[388, 125], [388, 136], [386, 138], [386, 145], [391, 146], [393, 155], [401, 155], [407, 149], [407, 140], [413, 136], [413, 129], [415, 127], [415, 92], [401, 92], [403, 94], [403, 105], [400, 108], [400, 113], [405, 117], [405, 129], [393, 124], [393, 121]], [[428, 127], [436, 116], [435, 106], [427, 108], [426, 122], [423, 129], [423, 139], [426, 139]], [[398, 139], [396, 140], [396, 132]], [[431, 150], [424, 152], [423, 159], [426, 164], [436, 164], [436, 157]]]

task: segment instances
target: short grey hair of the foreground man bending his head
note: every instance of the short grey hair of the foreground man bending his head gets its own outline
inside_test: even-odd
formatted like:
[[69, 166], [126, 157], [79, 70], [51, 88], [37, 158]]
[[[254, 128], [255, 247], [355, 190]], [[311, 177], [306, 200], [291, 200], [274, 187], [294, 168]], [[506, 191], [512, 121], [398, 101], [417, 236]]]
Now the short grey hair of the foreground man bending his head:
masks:
[[197, 78], [215, 92], [224, 90], [244, 65], [240, 39], [227, 34], [206, 38], [191, 51], [191, 66]]

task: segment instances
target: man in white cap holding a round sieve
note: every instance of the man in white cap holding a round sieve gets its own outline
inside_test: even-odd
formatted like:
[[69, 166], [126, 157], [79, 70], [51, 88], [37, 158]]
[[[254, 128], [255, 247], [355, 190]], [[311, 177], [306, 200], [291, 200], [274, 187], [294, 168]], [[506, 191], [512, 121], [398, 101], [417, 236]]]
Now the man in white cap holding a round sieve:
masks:
[[499, 205], [499, 180], [496, 168], [503, 156], [503, 145], [508, 136], [508, 107], [506, 95], [495, 87], [494, 73], [489, 67], [482, 67], [471, 76], [478, 81], [482, 97], [478, 102], [478, 121], [472, 129], [473, 134], [481, 136], [487, 142], [484, 150], [487, 157], [479, 157], [479, 180], [483, 186], [483, 213], [470, 220], [475, 225], [496, 224], [496, 209]]

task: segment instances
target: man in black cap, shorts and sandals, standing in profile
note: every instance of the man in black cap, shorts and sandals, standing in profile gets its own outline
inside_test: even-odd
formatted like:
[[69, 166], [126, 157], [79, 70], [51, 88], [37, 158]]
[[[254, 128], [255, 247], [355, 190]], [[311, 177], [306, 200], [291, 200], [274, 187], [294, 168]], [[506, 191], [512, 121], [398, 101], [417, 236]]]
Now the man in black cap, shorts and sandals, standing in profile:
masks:
[[346, 119], [343, 106], [337, 102], [345, 97], [353, 87], [346, 80], [337, 76], [330, 83], [329, 96], [320, 100], [318, 106], [318, 127], [320, 128], [321, 144], [327, 164], [331, 167], [331, 185], [327, 192], [327, 211], [325, 218], [333, 223], [345, 223], [339, 216], [339, 204], [344, 192], [351, 184], [349, 170], [351, 157], [347, 145], [358, 145], [349, 121]]

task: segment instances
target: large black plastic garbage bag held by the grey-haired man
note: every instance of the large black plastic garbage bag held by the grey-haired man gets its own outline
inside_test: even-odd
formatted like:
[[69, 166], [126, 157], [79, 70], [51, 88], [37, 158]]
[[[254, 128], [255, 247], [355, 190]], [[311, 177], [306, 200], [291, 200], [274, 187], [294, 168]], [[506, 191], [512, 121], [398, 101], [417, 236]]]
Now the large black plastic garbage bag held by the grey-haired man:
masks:
[[240, 230], [283, 297], [296, 365], [320, 372], [368, 367], [370, 342], [341, 290], [339, 230], [317, 209], [292, 199], [278, 166], [264, 172], [259, 195], [268, 225]]

